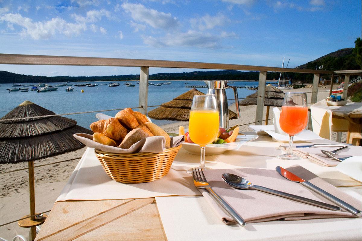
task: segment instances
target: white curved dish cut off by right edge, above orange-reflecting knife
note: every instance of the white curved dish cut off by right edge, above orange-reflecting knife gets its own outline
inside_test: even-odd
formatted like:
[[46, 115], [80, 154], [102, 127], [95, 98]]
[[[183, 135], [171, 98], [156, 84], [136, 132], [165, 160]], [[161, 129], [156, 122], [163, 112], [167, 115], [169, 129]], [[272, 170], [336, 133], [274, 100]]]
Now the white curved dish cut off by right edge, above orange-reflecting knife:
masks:
[[362, 156], [352, 156], [337, 165], [337, 170], [361, 182], [362, 180]]

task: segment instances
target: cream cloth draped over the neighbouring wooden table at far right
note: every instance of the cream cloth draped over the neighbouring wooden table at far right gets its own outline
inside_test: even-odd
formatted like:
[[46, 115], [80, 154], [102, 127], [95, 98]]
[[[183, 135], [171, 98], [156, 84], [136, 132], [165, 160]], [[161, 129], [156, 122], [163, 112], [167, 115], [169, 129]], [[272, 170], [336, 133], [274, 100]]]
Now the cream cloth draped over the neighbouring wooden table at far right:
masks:
[[346, 132], [348, 120], [332, 119], [332, 111], [357, 110], [361, 110], [361, 103], [349, 102], [345, 106], [328, 106], [327, 101], [323, 99], [311, 106], [313, 132], [326, 139], [332, 138], [332, 131]]

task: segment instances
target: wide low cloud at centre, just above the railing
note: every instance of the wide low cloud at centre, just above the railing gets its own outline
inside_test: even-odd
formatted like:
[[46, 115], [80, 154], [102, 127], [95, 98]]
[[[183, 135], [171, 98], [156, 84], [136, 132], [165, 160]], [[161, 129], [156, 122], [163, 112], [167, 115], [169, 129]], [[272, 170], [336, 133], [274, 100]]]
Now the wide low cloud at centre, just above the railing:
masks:
[[209, 33], [189, 30], [186, 33], [166, 34], [164, 38], [156, 39], [152, 36], [142, 36], [143, 43], [153, 47], [187, 46], [200, 48], [215, 48], [219, 46], [220, 37]]

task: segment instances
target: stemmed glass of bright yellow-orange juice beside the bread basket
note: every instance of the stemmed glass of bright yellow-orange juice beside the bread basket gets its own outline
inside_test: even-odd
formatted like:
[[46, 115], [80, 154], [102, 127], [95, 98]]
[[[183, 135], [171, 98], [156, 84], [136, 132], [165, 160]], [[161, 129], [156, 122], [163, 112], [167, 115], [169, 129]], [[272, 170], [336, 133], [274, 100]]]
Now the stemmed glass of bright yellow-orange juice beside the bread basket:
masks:
[[[219, 132], [219, 108], [216, 95], [194, 95], [190, 111], [189, 136], [201, 147], [200, 167], [205, 169], [205, 146]], [[187, 171], [192, 173], [192, 169]]]

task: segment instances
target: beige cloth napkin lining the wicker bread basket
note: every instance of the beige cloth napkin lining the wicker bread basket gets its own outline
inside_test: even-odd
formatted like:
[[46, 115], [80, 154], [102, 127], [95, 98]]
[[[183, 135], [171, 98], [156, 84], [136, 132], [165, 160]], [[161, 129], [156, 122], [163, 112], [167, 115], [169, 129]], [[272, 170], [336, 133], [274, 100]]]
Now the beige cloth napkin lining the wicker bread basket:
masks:
[[[138, 152], [163, 152], [165, 149], [166, 139], [163, 136], [153, 136], [143, 138], [142, 140], [134, 143], [129, 149], [122, 149], [114, 146], [107, 146], [100, 144], [98, 142], [93, 141], [93, 135], [85, 134], [85, 133], [76, 133], [73, 136], [83, 143], [84, 145], [95, 148], [97, 150], [111, 152], [111, 153], [138, 153]], [[184, 135], [179, 135], [176, 137], [171, 137], [171, 147], [176, 147], [181, 145], [182, 142], [185, 141]]]

